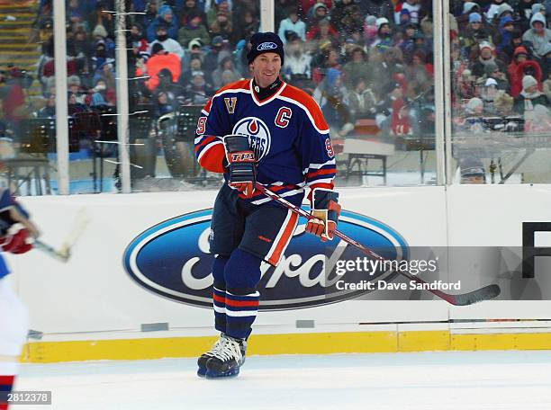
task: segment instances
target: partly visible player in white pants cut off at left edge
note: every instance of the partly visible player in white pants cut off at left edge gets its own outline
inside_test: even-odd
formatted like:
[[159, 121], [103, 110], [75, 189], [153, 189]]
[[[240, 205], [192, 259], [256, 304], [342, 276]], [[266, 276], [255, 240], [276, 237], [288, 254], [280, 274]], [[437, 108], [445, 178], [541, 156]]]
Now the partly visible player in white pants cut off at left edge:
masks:
[[[8, 190], [0, 190], [0, 246], [4, 252], [24, 254], [32, 249], [30, 236], [38, 230], [29, 214]], [[27, 312], [8, 282], [9, 271], [0, 255], [0, 410], [7, 410], [7, 395], [12, 391], [19, 355], [27, 337]]]

